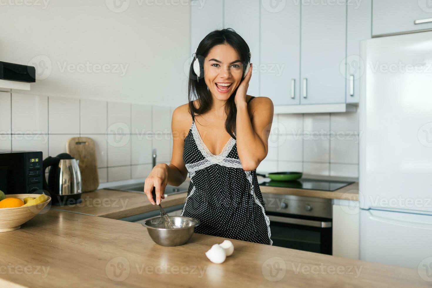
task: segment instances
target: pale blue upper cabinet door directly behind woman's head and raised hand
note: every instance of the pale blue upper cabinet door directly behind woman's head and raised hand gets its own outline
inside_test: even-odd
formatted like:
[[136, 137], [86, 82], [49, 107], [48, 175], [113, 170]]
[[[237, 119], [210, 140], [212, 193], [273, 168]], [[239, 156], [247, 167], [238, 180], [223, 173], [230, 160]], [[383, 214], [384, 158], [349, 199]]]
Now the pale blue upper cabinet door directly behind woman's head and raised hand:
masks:
[[[209, 2], [209, 1], [207, 1]], [[206, 2], [206, 5], [207, 5]], [[222, 1], [216, 1], [222, 2]], [[260, 0], [226, 0], [224, 9], [224, 28], [233, 28], [249, 46], [252, 78], [248, 94], [260, 96], [259, 60], [260, 60]]]

